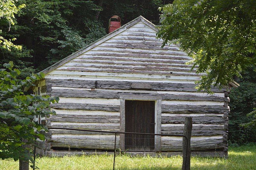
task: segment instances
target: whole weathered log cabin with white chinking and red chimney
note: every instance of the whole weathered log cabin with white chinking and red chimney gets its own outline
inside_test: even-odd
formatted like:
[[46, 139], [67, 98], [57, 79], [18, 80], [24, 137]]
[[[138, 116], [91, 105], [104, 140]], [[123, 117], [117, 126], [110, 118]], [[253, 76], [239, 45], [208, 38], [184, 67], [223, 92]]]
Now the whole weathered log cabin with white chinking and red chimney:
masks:
[[[184, 118], [192, 117], [192, 155], [227, 157], [228, 89], [238, 84], [212, 88], [213, 95], [198, 92], [200, 75], [185, 64], [191, 58], [178, 45], [161, 48], [154, 24], [142, 16], [122, 27], [115, 22], [120, 18], [110, 19], [108, 35], [43, 70], [36, 93], [60, 97], [51, 105], [57, 114], [46, 118], [46, 125], [182, 135]], [[67, 148], [114, 149], [113, 134], [52, 129], [48, 136], [45, 155]], [[122, 134], [117, 148], [177, 155], [182, 137]]]

